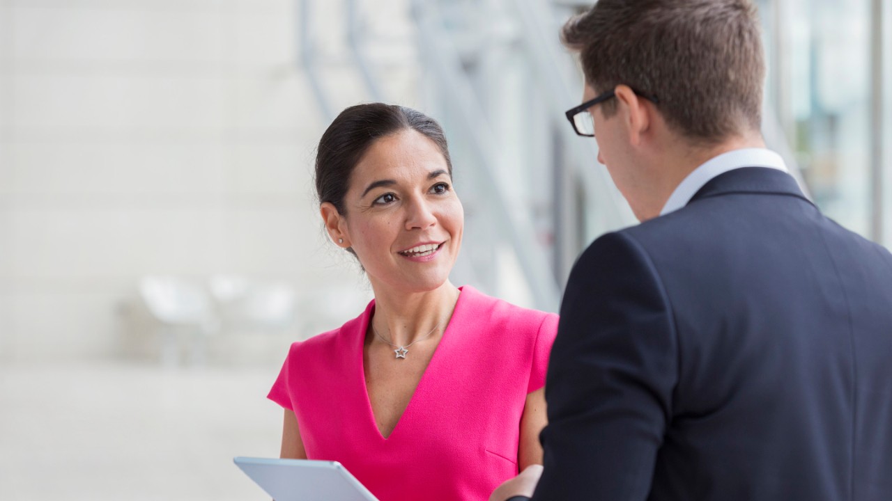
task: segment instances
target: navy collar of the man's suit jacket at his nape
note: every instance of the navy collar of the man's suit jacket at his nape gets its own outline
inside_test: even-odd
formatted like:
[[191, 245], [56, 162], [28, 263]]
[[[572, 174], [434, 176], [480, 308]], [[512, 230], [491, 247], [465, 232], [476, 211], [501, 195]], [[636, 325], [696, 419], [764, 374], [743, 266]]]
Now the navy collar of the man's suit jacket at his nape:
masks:
[[735, 168], [712, 178], [706, 185], [694, 193], [689, 203], [709, 197], [731, 193], [766, 193], [789, 195], [812, 203], [802, 190], [796, 179], [788, 173], [774, 168], [744, 167]]

